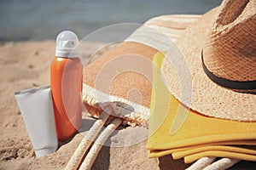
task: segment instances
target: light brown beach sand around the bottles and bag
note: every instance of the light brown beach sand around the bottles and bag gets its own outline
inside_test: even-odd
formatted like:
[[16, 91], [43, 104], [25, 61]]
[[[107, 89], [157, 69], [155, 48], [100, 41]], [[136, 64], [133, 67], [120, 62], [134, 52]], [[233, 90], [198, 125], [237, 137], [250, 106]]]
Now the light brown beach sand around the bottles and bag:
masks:
[[[98, 48], [102, 48], [102, 43], [84, 42], [80, 53], [83, 60], [88, 61]], [[94, 59], [108, 49], [104, 48]], [[53, 41], [0, 43], [0, 169], [63, 169], [83, 134], [95, 122], [86, 117], [84, 111], [81, 133], [61, 144], [54, 154], [35, 157], [14, 92], [49, 84], [49, 65], [54, 55]], [[148, 159], [147, 135], [148, 129], [144, 127], [119, 127], [102, 147], [92, 169], [184, 169], [189, 166], [183, 160], [173, 161], [172, 156]], [[242, 165], [239, 163], [236, 167], [255, 166], [252, 162]]]

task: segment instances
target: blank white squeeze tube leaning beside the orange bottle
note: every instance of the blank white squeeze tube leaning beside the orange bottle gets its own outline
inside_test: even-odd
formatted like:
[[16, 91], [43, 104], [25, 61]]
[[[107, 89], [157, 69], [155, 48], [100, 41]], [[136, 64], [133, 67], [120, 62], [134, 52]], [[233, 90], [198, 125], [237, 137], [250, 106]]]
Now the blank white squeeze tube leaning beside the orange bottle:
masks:
[[50, 87], [15, 92], [15, 98], [36, 156], [55, 152], [58, 140]]

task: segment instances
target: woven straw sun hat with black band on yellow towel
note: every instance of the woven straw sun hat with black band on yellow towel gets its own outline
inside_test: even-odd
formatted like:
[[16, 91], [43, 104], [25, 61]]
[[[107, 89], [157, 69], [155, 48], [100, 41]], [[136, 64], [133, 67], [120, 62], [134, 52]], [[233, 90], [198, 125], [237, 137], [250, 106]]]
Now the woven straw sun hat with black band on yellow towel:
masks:
[[177, 46], [190, 72], [191, 99], [183, 99], [177, 85], [183, 75], [168, 59], [161, 70], [181, 103], [205, 116], [256, 122], [255, 1], [224, 1], [189, 26]]

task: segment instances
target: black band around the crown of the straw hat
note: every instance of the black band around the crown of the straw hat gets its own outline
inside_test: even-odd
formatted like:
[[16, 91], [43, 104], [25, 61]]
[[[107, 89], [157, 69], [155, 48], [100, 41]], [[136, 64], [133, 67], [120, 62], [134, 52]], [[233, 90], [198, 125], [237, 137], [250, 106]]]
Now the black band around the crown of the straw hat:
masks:
[[211, 71], [207, 69], [207, 65], [205, 65], [204, 63], [203, 50], [201, 50], [201, 61], [202, 61], [203, 70], [207, 74], [207, 77], [209, 77], [212, 80], [212, 82], [215, 82], [224, 88], [233, 88], [237, 90], [256, 89], [256, 81], [239, 82], [239, 81], [232, 81], [232, 80], [225, 79], [223, 77], [215, 76]]

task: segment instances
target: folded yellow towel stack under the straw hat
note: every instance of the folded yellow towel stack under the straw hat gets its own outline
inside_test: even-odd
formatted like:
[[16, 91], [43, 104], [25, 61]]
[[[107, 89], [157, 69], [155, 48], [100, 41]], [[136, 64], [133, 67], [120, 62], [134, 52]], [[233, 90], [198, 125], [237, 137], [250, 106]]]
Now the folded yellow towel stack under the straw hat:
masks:
[[[256, 122], [202, 116], [180, 104], [160, 76], [163, 54], [155, 54], [147, 149], [149, 157], [173, 154], [185, 162], [204, 156], [256, 161]], [[175, 119], [175, 122], [174, 122]], [[174, 130], [173, 130], [174, 129]], [[236, 146], [231, 146], [236, 144]], [[237, 145], [240, 144], [240, 145]]]

